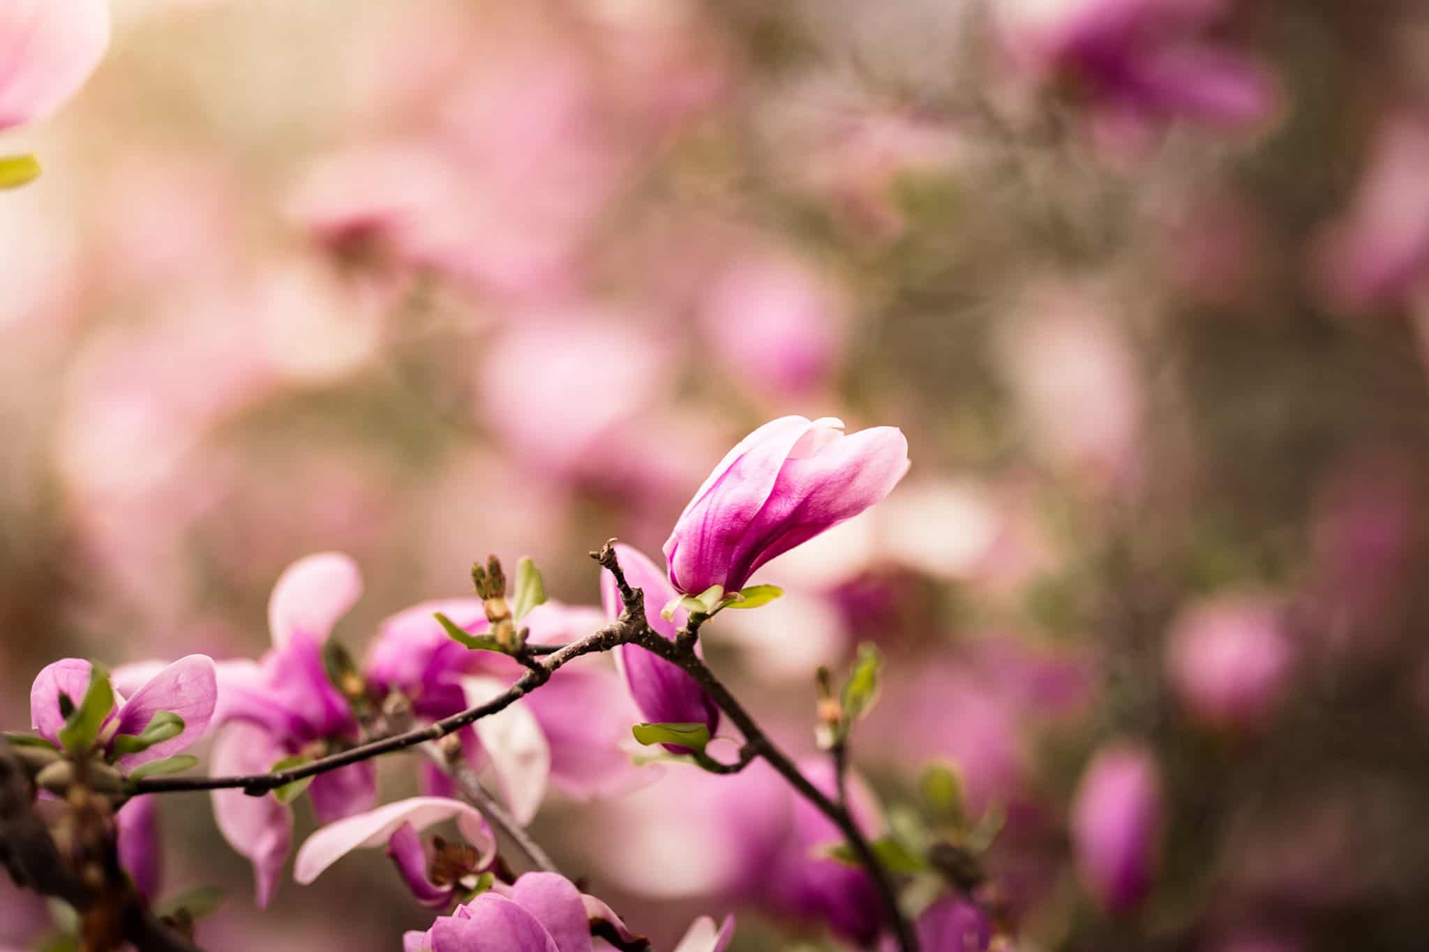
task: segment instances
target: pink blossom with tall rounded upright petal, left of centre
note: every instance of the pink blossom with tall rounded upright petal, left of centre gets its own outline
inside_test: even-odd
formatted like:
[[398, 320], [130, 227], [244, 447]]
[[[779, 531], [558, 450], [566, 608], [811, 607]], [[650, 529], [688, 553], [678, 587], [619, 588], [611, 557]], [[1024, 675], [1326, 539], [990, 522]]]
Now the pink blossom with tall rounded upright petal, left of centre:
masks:
[[[356, 562], [336, 552], [309, 555], [283, 572], [269, 599], [273, 648], [259, 664], [219, 668], [214, 719], [224, 726], [210, 762], [216, 776], [266, 774], [289, 756], [359, 738], [352, 707], [327, 678], [323, 642], [362, 588]], [[376, 766], [364, 761], [314, 776], [307, 795], [319, 821], [332, 822], [370, 806], [376, 784]], [[266, 906], [292, 845], [292, 811], [272, 796], [220, 789], [213, 814], [223, 838], [253, 861], [257, 903]]]

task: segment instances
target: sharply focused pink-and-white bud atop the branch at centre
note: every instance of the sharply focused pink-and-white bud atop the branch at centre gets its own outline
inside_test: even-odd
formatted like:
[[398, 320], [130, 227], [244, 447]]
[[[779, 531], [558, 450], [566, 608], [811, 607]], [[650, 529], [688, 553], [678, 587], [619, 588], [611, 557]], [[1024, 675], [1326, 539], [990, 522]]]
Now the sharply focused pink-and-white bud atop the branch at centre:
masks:
[[896, 427], [843, 434], [833, 417], [780, 417], [729, 451], [664, 542], [670, 584], [726, 592], [800, 542], [886, 497], [907, 472]]

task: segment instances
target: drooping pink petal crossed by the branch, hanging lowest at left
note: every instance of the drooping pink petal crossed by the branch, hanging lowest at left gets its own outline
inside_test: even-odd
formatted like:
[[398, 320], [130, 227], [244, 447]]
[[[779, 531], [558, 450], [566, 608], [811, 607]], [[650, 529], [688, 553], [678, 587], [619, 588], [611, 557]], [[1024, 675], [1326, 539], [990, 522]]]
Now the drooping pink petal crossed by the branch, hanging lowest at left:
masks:
[[[262, 728], [230, 724], [213, 745], [210, 772], [214, 776], [264, 774], [286, 755], [287, 751]], [[293, 842], [292, 811], [272, 796], [221, 789], [213, 791], [213, 818], [229, 845], [253, 862], [254, 901], [260, 909], [267, 906]]]

